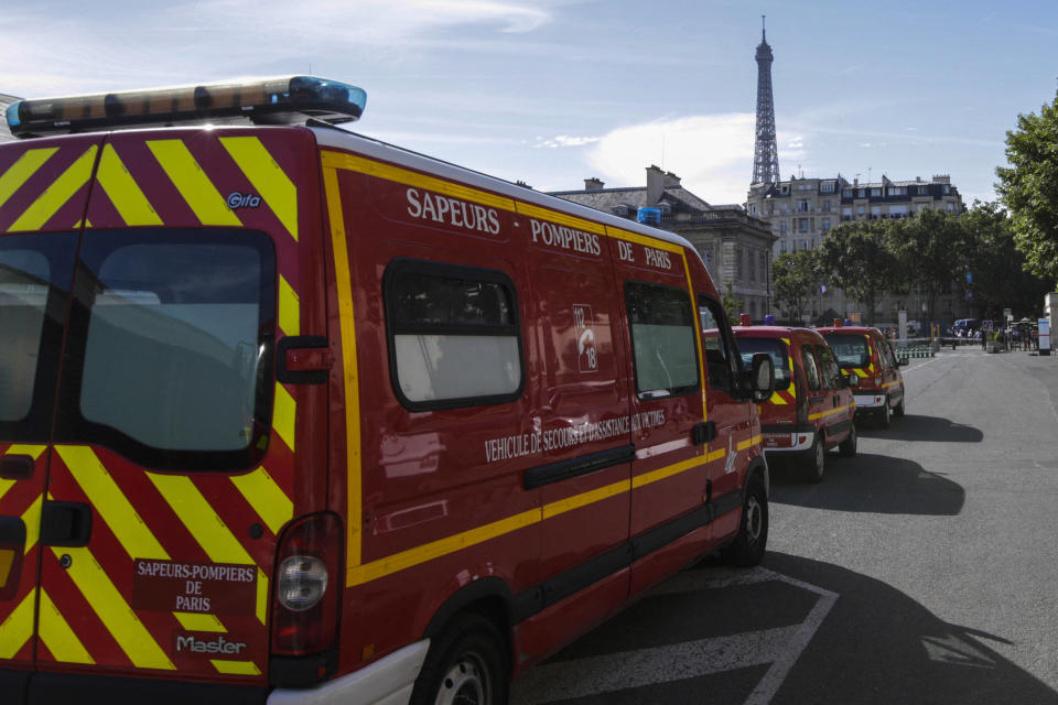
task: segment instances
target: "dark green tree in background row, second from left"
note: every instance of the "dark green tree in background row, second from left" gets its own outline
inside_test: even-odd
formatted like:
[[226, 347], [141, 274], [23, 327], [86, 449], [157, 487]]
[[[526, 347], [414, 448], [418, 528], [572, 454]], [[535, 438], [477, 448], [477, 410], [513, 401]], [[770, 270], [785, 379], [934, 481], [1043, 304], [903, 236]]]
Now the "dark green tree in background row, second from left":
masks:
[[889, 247], [888, 230], [895, 220], [842, 223], [823, 236], [825, 272], [833, 283], [864, 305], [866, 325], [874, 325], [874, 306], [886, 291], [902, 291], [904, 280]]

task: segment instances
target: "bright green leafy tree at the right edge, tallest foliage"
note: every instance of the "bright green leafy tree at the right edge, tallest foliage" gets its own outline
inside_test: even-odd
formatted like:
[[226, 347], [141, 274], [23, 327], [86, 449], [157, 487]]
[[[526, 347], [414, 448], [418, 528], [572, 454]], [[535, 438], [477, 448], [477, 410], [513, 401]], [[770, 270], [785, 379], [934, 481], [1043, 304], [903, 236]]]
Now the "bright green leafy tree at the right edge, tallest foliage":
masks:
[[[1008, 167], [995, 170], [1015, 242], [1030, 272], [1058, 283], [1058, 96], [1039, 115], [1017, 116], [1006, 133]], [[1058, 284], [1056, 284], [1058, 285]]]

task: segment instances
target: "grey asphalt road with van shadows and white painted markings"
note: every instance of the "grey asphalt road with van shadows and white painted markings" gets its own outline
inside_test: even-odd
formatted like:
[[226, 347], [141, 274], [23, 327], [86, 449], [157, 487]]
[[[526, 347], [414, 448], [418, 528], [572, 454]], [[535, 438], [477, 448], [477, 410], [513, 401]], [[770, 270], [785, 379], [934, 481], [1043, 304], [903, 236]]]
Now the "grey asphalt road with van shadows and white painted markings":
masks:
[[515, 684], [528, 703], [1058, 705], [1058, 358], [946, 350], [763, 565], [705, 560]]

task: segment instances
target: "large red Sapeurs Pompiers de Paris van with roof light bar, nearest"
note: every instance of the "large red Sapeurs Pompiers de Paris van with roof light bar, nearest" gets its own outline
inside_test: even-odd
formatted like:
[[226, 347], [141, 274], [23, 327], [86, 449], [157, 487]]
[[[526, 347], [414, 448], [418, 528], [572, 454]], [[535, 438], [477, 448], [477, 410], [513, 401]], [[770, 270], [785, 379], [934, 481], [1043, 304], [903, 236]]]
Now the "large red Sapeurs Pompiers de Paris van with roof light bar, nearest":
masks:
[[694, 248], [328, 124], [365, 99], [9, 109], [6, 703], [501, 703], [704, 552], [759, 561], [771, 364]]

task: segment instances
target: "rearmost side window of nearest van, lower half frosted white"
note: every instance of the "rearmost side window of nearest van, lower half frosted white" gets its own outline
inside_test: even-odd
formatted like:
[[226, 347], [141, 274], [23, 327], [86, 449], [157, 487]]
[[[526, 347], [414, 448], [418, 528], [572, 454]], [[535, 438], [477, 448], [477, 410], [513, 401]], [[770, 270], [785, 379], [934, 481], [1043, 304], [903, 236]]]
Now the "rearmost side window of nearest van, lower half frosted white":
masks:
[[510, 278], [397, 260], [384, 286], [391, 381], [407, 409], [496, 404], [521, 395], [521, 327]]

